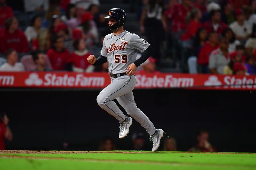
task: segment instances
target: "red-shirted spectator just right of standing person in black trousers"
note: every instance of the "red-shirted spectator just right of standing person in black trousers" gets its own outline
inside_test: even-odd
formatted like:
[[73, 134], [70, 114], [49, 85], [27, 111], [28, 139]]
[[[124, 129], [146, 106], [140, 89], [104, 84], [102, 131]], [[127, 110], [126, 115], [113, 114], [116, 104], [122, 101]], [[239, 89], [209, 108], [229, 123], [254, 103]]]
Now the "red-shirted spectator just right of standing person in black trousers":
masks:
[[183, 0], [182, 4], [174, 4], [164, 12], [165, 17], [172, 20], [172, 32], [177, 33], [186, 29], [185, 18], [192, 8], [191, 0]]

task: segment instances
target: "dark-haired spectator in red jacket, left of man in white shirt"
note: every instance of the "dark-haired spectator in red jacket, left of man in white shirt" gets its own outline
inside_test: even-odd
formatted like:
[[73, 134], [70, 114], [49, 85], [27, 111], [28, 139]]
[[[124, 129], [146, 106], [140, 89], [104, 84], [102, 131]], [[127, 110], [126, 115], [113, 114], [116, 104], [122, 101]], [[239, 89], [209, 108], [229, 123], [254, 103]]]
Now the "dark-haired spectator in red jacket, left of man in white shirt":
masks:
[[207, 32], [210, 33], [212, 31], [216, 31], [218, 35], [224, 31], [225, 28], [228, 26], [221, 21], [221, 14], [220, 10], [213, 10], [210, 12], [210, 21], [204, 23], [204, 27], [206, 28]]

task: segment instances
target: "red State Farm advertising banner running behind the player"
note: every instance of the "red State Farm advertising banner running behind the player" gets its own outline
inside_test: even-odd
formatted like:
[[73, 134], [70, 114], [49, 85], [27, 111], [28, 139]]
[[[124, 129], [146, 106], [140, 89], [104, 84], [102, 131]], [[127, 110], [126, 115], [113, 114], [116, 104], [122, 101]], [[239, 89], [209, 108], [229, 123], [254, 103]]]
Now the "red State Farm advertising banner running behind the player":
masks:
[[[157, 73], [136, 74], [137, 89], [186, 88], [216, 90], [256, 90], [256, 75], [211, 75]], [[108, 73], [0, 72], [0, 87], [95, 88], [110, 83]]]

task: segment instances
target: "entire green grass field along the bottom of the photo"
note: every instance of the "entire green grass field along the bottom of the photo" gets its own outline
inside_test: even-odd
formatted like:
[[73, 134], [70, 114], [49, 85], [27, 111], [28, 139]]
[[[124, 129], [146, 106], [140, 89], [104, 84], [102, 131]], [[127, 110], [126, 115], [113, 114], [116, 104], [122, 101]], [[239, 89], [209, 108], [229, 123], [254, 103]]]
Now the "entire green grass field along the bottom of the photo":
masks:
[[256, 169], [254, 153], [0, 151], [1, 170]]

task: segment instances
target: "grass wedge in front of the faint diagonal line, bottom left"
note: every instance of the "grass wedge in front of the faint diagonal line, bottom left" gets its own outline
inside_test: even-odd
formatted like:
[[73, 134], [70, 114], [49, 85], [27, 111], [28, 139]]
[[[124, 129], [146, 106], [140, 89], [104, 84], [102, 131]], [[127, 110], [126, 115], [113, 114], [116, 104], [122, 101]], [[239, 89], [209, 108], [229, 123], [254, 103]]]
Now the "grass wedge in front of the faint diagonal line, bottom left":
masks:
[[189, 169], [189, 170], [251, 170], [253, 167], [244, 166], [212, 166], [204, 164], [174, 164], [174, 163], [160, 163], [160, 162], [132, 162], [132, 161], [113, 161], [113, 160], [83, 160], [83, 159], [68, 159], [68, 158], [43, 158], [43, 157], [23, 157], [12, 158], [5, 157], [0, 158], [0, 167], [3, 170], [30, 170], [30, 169], [106, 169], [106, 170], [126, 170], [126, 169]]

